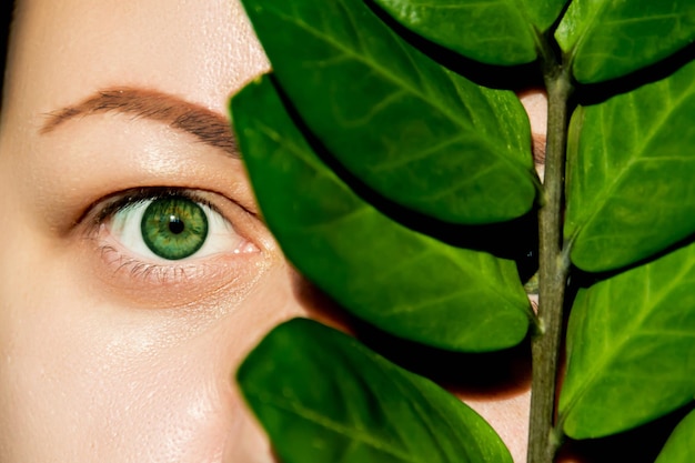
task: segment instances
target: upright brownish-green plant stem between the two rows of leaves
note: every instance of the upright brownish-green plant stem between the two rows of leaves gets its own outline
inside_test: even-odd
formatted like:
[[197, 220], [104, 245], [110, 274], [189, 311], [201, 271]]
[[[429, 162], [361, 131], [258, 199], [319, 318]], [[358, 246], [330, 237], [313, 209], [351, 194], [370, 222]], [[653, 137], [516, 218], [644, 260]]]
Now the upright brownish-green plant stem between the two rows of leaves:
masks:
[[545, 85], [548, 95], [545, 145], [545, 203], [538, 212], [538, 326], [531, 351], [533, 380], [527, 463], [552, 463], [561, 444], [554, 429], [555, 395], [563, 331], [563, 305], [568, 259], [562, 248], [565, 147], [567, 144], [567, 100], [572, 85], [562, 64], [548, 67]]

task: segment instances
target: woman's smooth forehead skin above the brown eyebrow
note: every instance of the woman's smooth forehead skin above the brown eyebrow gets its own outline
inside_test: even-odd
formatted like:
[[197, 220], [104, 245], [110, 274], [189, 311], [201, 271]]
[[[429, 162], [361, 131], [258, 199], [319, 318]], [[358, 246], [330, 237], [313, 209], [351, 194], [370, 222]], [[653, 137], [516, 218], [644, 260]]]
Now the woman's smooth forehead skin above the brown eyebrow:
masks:
[[236, 0], [22, 0], [9, 67], [8, 103], [20, 113], [115, 85], [224, 113], [229, 94], [266, 62]]

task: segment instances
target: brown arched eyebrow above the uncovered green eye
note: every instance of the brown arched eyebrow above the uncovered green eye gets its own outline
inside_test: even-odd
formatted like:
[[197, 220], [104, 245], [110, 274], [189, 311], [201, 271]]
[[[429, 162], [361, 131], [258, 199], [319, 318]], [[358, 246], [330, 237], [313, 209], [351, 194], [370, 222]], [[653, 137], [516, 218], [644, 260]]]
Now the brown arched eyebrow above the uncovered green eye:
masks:
[[74, 105], [50, 112], [40, 132], [52, 132], [75, 118], [108, 112], [133, 114], [135, 118], [165, 123], [223, 150], [232, 158], [240, 158], [239, 147], [224, 117], [200, 104], [157, 90], [130, 87], [100, 90]]

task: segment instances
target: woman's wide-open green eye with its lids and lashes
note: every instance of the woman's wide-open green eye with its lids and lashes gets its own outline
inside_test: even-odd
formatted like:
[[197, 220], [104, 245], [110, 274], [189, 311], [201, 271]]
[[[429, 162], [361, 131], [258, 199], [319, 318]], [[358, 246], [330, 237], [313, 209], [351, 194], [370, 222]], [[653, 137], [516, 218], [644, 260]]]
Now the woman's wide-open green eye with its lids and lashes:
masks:
[[99, 201], [90, 214], [99, 256], [132, 284], [210, 279], [230, 261], [260, 253], [248, 238], [251, 214], [216, 193], [139, 188]]

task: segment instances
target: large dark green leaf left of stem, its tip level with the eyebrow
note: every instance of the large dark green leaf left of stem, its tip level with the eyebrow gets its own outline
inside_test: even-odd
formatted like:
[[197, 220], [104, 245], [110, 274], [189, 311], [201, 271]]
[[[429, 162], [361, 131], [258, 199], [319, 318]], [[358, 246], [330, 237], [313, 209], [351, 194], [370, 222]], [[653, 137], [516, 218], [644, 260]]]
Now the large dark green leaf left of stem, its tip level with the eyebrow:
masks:
[[362, 0], [243, 3], [306, 124], [371, 188], [454, 223], [531, 210], [531, 132], [512, 92], [439, 66]]

